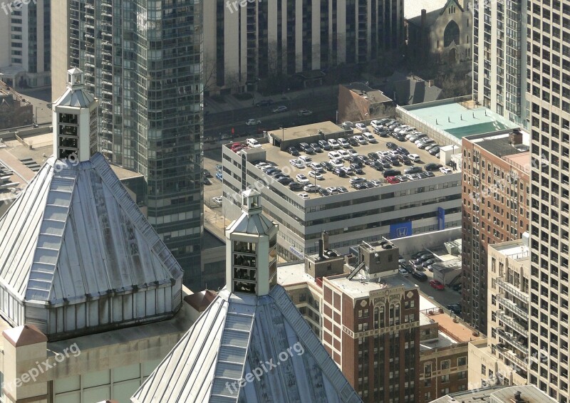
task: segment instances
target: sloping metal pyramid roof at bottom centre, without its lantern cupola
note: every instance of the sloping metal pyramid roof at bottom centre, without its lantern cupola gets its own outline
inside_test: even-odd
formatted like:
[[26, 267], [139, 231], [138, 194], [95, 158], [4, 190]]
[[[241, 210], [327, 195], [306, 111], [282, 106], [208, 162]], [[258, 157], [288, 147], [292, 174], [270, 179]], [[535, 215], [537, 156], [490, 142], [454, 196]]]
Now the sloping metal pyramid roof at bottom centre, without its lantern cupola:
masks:
[[274, 286], [261, 296], [231, 294], [224, 288], [131, 401], [351, 403], [361, 399], [284, 288]]

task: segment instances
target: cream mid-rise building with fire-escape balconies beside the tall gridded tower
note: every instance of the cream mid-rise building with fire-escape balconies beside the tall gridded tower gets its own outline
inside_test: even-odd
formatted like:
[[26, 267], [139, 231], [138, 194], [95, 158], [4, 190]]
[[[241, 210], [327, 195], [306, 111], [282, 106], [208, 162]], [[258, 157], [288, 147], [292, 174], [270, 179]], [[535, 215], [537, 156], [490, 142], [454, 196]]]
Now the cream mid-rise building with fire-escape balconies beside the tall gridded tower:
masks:
[[489, 245], [488, 253], [489, 336], [470, 344], [469, 382], [472, 387], [524, 385], [529, 370], [529, 234]]

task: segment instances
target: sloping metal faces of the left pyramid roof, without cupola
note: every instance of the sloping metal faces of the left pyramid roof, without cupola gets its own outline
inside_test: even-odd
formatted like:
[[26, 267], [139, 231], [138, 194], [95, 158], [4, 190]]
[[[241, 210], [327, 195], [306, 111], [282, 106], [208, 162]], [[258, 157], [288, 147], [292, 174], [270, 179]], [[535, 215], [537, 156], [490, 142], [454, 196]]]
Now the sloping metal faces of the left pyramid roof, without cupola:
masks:
[[[81, 303], [181, 278], [98, 153], [85, 162], [49, 158], [0, 219], [0, 288], [19, 303]], [[0, 311], [13, 316], [2, 304]]]

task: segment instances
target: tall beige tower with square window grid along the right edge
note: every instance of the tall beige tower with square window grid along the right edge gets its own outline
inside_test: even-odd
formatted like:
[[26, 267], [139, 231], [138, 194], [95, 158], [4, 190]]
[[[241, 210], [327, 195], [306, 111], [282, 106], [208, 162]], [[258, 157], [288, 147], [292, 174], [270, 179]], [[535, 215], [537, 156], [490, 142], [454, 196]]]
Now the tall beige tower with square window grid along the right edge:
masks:
[[567, 403], [570, 2], [530, 0], [526, 11], [533, 162], [529, 382]]

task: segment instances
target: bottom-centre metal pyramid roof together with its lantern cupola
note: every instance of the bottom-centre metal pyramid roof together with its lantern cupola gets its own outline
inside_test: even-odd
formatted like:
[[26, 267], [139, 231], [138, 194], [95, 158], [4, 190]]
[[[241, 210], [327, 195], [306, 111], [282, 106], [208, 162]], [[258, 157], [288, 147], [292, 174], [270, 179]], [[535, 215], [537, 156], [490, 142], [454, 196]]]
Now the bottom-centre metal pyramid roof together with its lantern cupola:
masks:
[[277, 225], [261, 195], [242, 197], [226, 229], [226, 287], [131, 401], [361, 402], [276, 283]]

